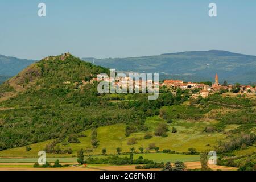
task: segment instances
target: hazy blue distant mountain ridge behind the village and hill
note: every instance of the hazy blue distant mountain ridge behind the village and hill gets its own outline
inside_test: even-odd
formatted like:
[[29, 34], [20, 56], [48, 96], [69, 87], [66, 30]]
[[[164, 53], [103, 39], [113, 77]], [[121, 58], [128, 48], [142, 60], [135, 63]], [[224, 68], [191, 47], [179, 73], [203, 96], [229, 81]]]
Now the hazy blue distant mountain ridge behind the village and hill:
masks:
[[[256, 56], [228, 51], [191, 51], [165, 53], [156, 56], [82, 58], [84, 61], [115, 68], [117, 71], [160, 73], [160, 79], [179, 78], [184, 81], [213, 81], [218, 73], [220, 81], [250, 84], [256, 82]], [[0, 82], [14, 76], [35, 60], [0, 55]]]

